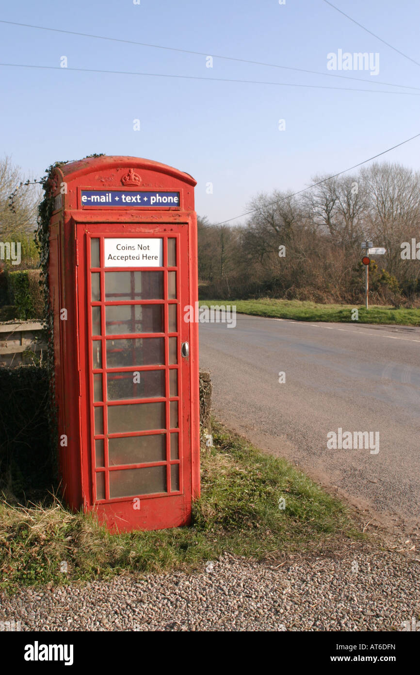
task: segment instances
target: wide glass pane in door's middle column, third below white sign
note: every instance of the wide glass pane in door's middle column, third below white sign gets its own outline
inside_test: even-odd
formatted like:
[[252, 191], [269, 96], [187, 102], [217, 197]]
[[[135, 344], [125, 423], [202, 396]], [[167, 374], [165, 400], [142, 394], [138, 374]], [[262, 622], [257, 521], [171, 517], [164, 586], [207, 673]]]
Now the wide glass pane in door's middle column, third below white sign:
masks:
[[160, 365], [164, 365], [164, 338], [107, 340], [108, 368]]

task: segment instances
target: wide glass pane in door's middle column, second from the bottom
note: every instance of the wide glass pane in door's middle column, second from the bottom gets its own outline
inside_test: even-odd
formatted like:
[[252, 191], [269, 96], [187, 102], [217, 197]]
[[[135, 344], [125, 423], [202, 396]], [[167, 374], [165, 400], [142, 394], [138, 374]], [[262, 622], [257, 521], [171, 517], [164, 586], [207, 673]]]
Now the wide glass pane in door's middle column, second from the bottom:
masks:
[[167, 458], [166, 438], [166, 433], [110, 438], [108, 441], [109, 466], [164, 462]]

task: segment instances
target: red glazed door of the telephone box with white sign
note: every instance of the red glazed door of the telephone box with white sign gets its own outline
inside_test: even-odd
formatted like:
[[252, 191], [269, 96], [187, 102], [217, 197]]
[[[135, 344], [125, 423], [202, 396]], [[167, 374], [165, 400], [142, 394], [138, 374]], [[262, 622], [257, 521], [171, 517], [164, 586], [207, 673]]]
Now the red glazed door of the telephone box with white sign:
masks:
[[191, 512], [185, 225], [77, 225], [82, 476], [111, 529]]

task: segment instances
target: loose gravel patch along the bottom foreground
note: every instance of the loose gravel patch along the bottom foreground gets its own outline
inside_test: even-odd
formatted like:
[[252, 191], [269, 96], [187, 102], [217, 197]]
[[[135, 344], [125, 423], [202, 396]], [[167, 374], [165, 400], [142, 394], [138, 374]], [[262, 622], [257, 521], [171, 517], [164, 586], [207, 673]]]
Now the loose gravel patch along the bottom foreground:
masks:
[[0, 621], [26, 631], [402, 630], [419, 615], [419, 591], [419, 562], [392, 552], [282, 564], [225, 554], [200, 573], [2, 594]]

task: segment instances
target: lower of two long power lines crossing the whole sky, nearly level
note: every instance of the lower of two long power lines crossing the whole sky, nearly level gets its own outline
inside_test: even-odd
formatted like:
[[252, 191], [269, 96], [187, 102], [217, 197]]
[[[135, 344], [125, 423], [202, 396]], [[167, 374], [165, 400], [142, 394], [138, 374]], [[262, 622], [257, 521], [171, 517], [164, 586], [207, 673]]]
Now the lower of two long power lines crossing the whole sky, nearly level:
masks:
[[177, 78], [182, 80], [204, 80], [204, 82], [239, 82], [242, 84], [270, 84], [272, 86], [294, 86], [304, 89], [331, 89], [338, 91], [363, 91], [369, 94], [396, 94], [397, 96], [420, 96], [411, 91], [388, 91], [385, 89], [359, 89], [355, 87], [344, 86], [326, 86], [324, 84], [294, 84], [289, 82], [268, 82], [265, 80], [234, 80], [232, 78], [214, 78], [200, 77], [198, 75], [171, 75], [165, 73], [139, 73], [129, 70], [98, 70], [94, 68], [61, 68], [60, 65], [34, 65], [33, 63], [0, 63], [7, 68], [38, 68], [41, 70], [70, 70], [72, 72], [82, 73], [102, 73], [112, 75], [137, 75], [152, 78]]

